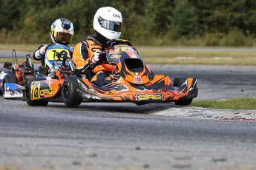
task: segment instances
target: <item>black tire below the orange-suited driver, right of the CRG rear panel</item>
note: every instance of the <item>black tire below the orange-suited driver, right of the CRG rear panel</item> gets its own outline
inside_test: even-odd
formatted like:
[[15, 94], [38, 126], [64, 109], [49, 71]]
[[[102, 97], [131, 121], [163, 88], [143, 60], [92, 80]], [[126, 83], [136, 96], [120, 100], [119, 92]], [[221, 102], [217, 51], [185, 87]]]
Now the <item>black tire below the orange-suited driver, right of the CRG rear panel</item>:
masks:
[[77, 83], [78, 77], [65, 78], [62, 85], [62, 100], [66, 106], [79, 106], [82, 103], [82, 98], [80, 98], [76, 89], [78, 88]]

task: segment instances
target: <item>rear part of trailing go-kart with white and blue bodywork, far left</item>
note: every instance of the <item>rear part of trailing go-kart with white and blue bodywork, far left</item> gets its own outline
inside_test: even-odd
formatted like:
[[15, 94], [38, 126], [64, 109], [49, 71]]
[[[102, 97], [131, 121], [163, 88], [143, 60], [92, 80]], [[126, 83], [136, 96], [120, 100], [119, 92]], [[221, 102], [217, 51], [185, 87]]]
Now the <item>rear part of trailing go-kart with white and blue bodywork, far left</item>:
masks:
[[24, 85], [34, 76], [30, 54], [26, 55], [26, 61], [17, 64], [16, 52], [13, 50], [13, 64], [4, 62], [4, 68], [11, 71], [2, 71], [0, 74], [0, 95], [4, 98], [22, 98]]

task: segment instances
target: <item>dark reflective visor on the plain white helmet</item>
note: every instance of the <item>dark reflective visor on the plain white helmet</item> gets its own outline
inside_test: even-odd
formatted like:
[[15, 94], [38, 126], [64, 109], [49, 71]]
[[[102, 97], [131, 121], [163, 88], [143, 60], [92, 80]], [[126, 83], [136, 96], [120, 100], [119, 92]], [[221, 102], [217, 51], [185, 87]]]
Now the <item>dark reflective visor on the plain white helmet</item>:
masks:
[[99, 17], [98, 21], [99, 21], [99, 24], [105, 29], [115, 31], [115, 32], [122, 31], [122, 22], [108, 21], [108, 20], [103, 19], [102, 17]]

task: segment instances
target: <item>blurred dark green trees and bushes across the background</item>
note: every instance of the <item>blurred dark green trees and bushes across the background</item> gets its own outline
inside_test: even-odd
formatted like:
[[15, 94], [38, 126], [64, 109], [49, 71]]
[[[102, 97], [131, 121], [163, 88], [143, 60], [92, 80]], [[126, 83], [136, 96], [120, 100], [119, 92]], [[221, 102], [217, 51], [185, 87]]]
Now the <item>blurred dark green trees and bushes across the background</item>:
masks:
[[0, 43], [51, 43], [50, 25], [68, 18], [76, 44], [95, 34], [93, 16], [106, 6], [122, 13], [120, 38], [136, 45], [256, 45], [255, 0], [0, 0]]

